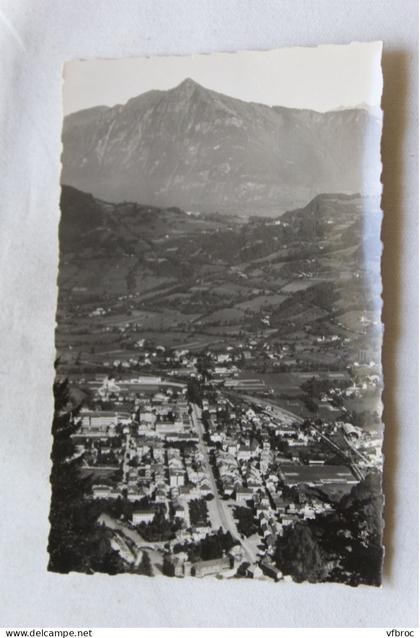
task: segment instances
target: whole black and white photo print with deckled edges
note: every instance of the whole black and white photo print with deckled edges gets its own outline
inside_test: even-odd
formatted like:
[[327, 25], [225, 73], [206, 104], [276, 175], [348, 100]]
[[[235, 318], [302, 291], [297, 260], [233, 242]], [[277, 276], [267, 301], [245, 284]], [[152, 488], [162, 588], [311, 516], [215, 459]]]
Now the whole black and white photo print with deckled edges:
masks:
[[65, 65], [49, 571], [381, 585], [381, 52]]

